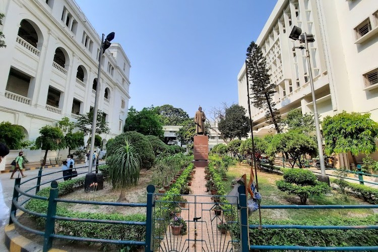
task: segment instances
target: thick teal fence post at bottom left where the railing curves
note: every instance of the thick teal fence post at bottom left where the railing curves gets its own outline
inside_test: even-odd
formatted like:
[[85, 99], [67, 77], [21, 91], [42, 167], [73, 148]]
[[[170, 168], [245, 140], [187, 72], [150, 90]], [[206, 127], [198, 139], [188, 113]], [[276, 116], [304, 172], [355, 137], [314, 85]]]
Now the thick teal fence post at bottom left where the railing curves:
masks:
[[58, 183], [56, 181], [52, 181], [50, 196], [48, 197], [45, 234], [43, 238], [43, 252], [47, 252], [52, 246], [53, 237], [51, 237], [51, 234], [54, 233], [55, 227], [55, 219], [53, 219], [52, 217], [56, 214], [56, 198], [58, 198]]

